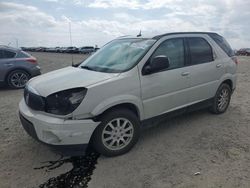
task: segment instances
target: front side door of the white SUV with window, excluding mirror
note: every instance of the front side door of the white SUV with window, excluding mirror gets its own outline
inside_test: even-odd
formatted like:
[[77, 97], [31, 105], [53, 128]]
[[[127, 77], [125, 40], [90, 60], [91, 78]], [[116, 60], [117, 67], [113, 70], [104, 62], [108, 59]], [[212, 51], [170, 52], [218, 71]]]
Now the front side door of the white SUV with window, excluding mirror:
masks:
[[[159, 55], [167, 56], [168, 69], [141, 75], [141, 95], [145, 119], [181, 108], [187, 103], [188, 72], [185, 67], [184, 38], [166, 39], [148, 61]], [[145, 67], [144, 65], [144, 67]]]

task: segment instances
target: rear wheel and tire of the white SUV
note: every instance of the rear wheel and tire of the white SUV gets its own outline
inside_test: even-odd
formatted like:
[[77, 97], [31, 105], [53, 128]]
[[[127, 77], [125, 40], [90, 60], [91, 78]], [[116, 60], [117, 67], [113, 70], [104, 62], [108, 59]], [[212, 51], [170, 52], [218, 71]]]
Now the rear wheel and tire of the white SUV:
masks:
[[226, 83], [221, 84], [216, 92], [210, 111], [214, 114], [224, 113], [230, 104], [231, 95], [232, 90], [230, 86]]

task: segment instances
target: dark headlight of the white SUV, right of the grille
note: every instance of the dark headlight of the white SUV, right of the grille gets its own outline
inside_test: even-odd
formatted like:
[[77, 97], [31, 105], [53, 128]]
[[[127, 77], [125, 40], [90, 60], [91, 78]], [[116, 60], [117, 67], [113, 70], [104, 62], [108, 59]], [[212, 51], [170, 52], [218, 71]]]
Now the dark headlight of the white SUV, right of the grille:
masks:
[[67, 89], [53, 93], [45, 99], [45, 111], [56, 115], [73, 112], [87, 93], [86, 88]]

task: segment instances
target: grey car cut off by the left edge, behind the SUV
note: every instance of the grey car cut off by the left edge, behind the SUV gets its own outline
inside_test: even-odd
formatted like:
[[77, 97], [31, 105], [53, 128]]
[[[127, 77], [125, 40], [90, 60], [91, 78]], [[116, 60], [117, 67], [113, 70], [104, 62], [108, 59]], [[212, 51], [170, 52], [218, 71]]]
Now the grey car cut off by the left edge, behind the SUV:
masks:
[[23, 88], [26, 82], [40, 75], [35, 57], [21, 49], [0, 46], [0, 84], [10, 88]]

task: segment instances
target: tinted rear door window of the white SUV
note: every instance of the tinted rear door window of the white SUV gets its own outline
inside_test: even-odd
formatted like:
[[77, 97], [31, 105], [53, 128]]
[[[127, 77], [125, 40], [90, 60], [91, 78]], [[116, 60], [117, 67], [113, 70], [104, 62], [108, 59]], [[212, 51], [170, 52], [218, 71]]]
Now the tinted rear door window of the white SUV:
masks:
[[196, 65], [213, 61], [213, 50], [208, 42], [200, 37], [187, 38], [190, 64]]

